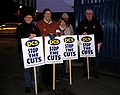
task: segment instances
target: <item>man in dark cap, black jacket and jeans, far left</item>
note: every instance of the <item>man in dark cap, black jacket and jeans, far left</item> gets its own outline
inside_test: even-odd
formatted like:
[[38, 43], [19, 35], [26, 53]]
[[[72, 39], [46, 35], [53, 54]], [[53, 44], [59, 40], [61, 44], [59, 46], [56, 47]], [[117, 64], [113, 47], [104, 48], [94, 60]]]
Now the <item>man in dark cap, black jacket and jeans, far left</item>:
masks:
[[[18, 43], [18, 53], [20, 57], [20, 62], [23, 67], [23, 75], [24, 75], [24, 84], [25, 84], [25, 92], [30, 93], [31, 88], [34, 88], [34, 75], [33, 68], [24, 68], [23, 57], [22, 57], [22, 45], [21, 38], [29, 38], [32, 39], [36, 36], [41, 36], [41, 32], [39, 28], [32, 23], [33, 17], [31, 12], [27, 12], [24, 15], [24, 22], [17, 27], [16, 30], [16, 40]], [[39, 68], [37, 67], [37, 80], [39, 82]], [[38, 84], [40, 86], [40, 84]], [[40, 90], [41, 88], [38, 88]]]

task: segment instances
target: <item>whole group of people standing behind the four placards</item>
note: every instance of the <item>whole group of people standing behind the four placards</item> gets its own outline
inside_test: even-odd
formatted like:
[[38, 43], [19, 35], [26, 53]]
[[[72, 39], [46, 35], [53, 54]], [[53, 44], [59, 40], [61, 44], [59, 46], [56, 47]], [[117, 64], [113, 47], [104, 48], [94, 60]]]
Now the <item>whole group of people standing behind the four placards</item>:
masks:
[[[43, 10], [43, 19], [37, 22], [35, 25], [33, 22], [33, 16], [31, 13], [24, 15], [24, 22], [17, 27], [16, 30], [16, 40], [18, 42], [18, 53], [20, 57], [21, 65], [23, 66], [23, 57], [22, 57], [22, 46], [21, 38], [29, 38], [43, 36], [43, 41], [45, 36], [49, 36], [51, 39], [54, 39], [54, 36], [60, 35], [74, 35], [74, 29], [70, 24], [69, 16], [67, 13], [63, 13], [58, 22], [52, 20], [52, 11], [49, 8]], [[57, 30], [57, 31], [56, 31]], [[58, 34], [59, 31], [59, 34]], [[94, 18], [93, 11], [87, 9], [85, 13], [85, 19], [80, 22], [79, 29], [76, 31], [77, 35], [83, 34], [94, 34], [95, 35], [95, 47], [102, 45], [102, 27], [99, 22]], [[97, 50], [97, 49], [96, 49]], [[96, 51], [97, 52], [97, 51]], [[92, 62], [95, 63], [95, 60], [91, 58]], [[64, 61], [65, 64], [56, 65], [56, 78], [60, 79], [65, 78], [65, 73], [68, 73], [68, 61]], [[86, 63], [84, 67], [86, 68]], [[95, 66], [93, 66], [95, 67]], [[62, 70], [62, 71], [60, 71]], [[37, 81], [38, 81], [38, 91], [42, 90], [43, 85], [50, 85], [52, 83], [52, 65], [44, 65], [36, 67], [37, 71]], [[96, 73], [96, 68], [93, 69]], [[62, 74], [60, 73], [62, 72]], [[85, 69], [85, 74], [87, 70]], [[34, 75], [33, 68], [24, 69], [24, 83], [25, 83], [25, 92], [30, 93], [31, 88], [34, 88]], [[61, 76], [64, 75], [64, 76]]]

